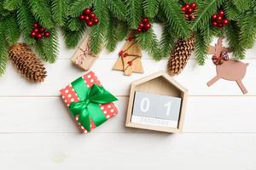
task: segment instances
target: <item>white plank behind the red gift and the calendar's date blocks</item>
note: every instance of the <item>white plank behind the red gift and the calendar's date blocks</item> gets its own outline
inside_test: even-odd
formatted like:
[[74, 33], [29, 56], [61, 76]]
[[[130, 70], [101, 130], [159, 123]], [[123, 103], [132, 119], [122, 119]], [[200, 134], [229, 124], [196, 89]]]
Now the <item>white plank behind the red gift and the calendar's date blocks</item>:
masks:
[[[189, 97], [184, 133], [256, 133], [256, 97]], [[91, 133], [154, 133], [125, 128], [127, 97], [119, 115]], [[1, 97], [0, 133], [79, 133], [60, 97]]]

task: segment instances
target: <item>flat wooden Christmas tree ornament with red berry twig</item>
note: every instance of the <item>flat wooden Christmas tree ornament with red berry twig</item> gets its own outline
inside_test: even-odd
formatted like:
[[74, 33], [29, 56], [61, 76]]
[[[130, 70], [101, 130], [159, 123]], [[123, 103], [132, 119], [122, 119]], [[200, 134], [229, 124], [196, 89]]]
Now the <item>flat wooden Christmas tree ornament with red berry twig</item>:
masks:
[[119, 52], [119, 59], [113, 65], [113, 70], [124, 71], [126, 76], [131, 76], [132, 72], [143, 73], [142, 51], [134, 35], [134, 33], [129, 35]]

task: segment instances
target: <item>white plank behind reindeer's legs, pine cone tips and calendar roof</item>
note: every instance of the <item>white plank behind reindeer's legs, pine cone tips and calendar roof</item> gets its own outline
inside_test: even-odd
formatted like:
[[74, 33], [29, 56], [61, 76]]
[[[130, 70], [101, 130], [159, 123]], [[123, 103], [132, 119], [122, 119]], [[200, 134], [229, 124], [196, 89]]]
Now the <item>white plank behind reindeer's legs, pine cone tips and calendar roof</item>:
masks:
[[[125, 77], [123, 72], [111, 70], [114, 61], [115, 59], [98, 59], [96, 64], [93, 65], [92, 71], [96, 72], [104, 87], [116, 95], [128, 95], [131, 82], [166, 68], [166, 60], [155, 62], [151, 59], [143, 59], [145, 73]], [[256, 95], [256, 74], [254, 74], [256, 72], [256, 59], [247, 59], [245, 62], [249, 63], [247, 75], [243, 80], [249, 92], [247, 95]], [[59, 95], [60, 88], [63, 88], [67, 83], [72, 82], [84, 73], [84, 71], [80, 71], [72, 65], [69, 59], [59, 59], [55, 64], [47, 65], [47, 71], [48, 77], [45, 82], [31, 84], [21, 78], [9, 63], [6, 74], [0, 77], [0, 96], [56, 96]], [[212, 87], [207, 87], [207, 82], [215, 74], [215, 65], [212, 65], [210, 59], [207, 60], [204, 66], [196, 65], [195, 60], [191, 59], [184, 71], [174, 79], [189, 90], [189, 95], [242, 94], [236, 82], [222, 79]]]

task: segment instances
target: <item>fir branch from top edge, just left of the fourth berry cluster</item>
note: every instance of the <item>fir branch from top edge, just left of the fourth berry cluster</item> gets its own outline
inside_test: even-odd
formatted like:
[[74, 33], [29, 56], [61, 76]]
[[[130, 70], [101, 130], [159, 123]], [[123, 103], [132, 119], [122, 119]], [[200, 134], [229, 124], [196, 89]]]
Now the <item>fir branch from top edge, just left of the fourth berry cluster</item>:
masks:
[[189, 37], [189, 24], [184, 20], [180, 7], [174, 0], [160, 0], [160, 6], [166, 15], [166, 22], [178, 37]]

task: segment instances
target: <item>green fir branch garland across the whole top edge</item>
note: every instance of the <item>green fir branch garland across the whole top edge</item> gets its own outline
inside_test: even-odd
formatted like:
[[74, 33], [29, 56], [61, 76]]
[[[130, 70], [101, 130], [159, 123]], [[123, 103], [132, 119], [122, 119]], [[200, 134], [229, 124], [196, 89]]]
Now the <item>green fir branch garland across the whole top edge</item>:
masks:
[[[47, 3], [38, 3], [36, 0], [3, 0], [0, 2], [0, 75], [3, 75], [7, 65], [9, 47], [15, 44], [20, 36], [24, 42], [36, 49], [41, 59], [53, 63], [58, 54], [59, 35], [64, 36], [67, 48], [74, 48], [84, 36], [84, 32], [90, 29], [87, 32], [90, 35], [92, 54], [99, 54], [102, 44], [112, 52], [117, 42], [124, 40], [128, 32], [140, 32], [138, 24], [144, 20], [142, 16], [147, 16], [150, 23], [146, 27], [144, 23], [143, 27], [140, 25], [143, 33], [137, 34], [137, 45], [147, 51], [153, 59], [165, 58], [173, 51], [177, 39], [187, 39], [191, 34], [195, 34], [195, 59], [199, 65], [205, 63], [212, 37], [224, 34], [234, 57], [244, 59], [246, 49], [252, 48], [256, 39], [254, 0], [192, 2], [189, 1], [188, 9], [182, 8], [182, 13], [181, 2], [170, 0], [49, 0]], [[188, 4], [186, 3], [185, 7], [188, 7]], [[216, 11], [218, 14], [214, 15]], [[187, 18], [193, 21], [188, 22], [184, 20], [184, 14], [190, 13], [191, 18]], [[88, 20], [89, 17], [90, 21], [84, 24], [78, 17], [80, 20]], [[31, 32], [31, 26], [36, 21], [48, 32], [43, 31], [44, 35]], [[211, 22], [212, 25], [209, 24]], [[160, 42], [154, 29], [148, 29], [154, 23], [164, 26]], [[214, 26], [222, 29], [216, 29]], [[61, 34], [58, 34], [57, 30], [60, 30]]]

